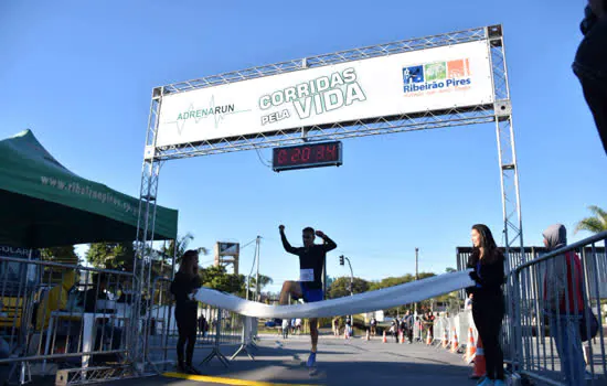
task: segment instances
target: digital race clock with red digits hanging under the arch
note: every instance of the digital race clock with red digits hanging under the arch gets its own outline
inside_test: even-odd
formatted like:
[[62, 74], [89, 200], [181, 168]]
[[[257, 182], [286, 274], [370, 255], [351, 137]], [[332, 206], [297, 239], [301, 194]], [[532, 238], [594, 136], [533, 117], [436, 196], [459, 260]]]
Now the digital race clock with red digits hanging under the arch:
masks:
[[292, 169], [339, 167], [342, 164], [341, 142], [310, 142], [275, 148], [271, 158], [275, 172]]

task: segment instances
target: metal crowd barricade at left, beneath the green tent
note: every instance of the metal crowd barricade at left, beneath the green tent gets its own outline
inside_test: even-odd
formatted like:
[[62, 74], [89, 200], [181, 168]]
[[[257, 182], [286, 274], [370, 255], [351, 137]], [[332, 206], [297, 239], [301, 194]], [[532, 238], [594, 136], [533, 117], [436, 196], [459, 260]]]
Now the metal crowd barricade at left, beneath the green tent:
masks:
[[57, 365], [90, 380], [93, 366], [128, 361], [132, 274], [10, 257], [0, 257], [0, 364], [12, 364], [10, 380]]

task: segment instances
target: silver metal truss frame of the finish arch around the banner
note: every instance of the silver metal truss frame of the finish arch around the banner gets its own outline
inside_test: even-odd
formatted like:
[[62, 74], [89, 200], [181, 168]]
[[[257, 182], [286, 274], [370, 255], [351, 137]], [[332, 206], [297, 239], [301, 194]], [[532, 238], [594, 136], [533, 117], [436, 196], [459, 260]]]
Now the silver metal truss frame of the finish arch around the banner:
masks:
[[[185, 93], [205, 87], [302, 71], [306, 68], [321, 67], [343, 62], [360, 61], [371, 57], [386, 56], [475, 41], [484, 41], [488, 44], [488, 52], [490, 53], [492, 67], [494, 94], [493, 104], [445, 110], [428, 110], [417, 114], [385, 116], [364, 120], [341, 121], [326, 126], [300, 127], [289, 130], [223, 138], [211, 141], [191, 142], [179, 146], [156, 146], [160, 108], [162, 105], [162, 98], [166, 95]], [[156, 202], [160, 167], [166, 161], [180, 158], [297, 144], [311, 140], [339, 140], [345, 138], [487, 122], [496, 122], [502, 193], [503, 233], [508, 254], [510, 248], [523, 247], [523, 237], [519, 194], [519, 174], [512, 127], [512, 109], [501, 25], [491, 25], [460, 32], [342, 51], [327, 55], [281, 62], [157, 87], [152, 92], [143, 156], [143, 168], [141, 173], [137, 261], [135, 268], [136, 277], [139, 280], [138, 285], [141, 288], [139, 293], [145, 292], [146, 289], [149, 289], [151, 286], [151, 264], [149, 261], [149, 257], [146, 256], [146, 250], [151, 250], [151, 243], [153, 242], [151, 239], [151, 235], [153, 234], [155, 228], [153, 223], [156, 217]], [[139, 304], [140, 302], [136, 303]], [[146, 328], [146, 322], [143, 322], [143, 328]], [[132, 333], [137, 336], [137, 331], [134, 330]], [[134, 343], [134, 353], [145, 352], [145, 342], [141, 343], [140, 340], [135, 340]], [[141, 344], [143, 344], [143, 347], [140, 346]], [[145, 362], [145, 360], [139, 357], [139, 363], [142, 362]]]

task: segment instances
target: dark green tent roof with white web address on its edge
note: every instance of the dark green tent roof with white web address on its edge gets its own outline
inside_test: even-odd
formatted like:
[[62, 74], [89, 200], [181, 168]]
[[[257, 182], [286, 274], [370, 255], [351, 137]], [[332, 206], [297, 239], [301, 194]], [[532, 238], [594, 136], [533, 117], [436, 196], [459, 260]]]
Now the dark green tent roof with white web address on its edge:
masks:
[[[138, 211], [138, 199], [74, 174], [30, 130], [0, 141], [0, 245], [132, 242]], [[174, 239], [177, 217], [158, 206], [155, 239]]]

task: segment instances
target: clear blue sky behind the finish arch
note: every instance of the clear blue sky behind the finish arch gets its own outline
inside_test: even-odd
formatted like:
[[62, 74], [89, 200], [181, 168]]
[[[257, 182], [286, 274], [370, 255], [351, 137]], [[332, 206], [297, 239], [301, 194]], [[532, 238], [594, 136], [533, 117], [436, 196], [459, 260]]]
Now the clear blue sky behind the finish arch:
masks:
[[[584, 1], [2, 1], [0, 137], [25, 128], [79, 175], [139, 192], [151, 89], [255, 65], [502, 23], [526, 245], [607, 206], [607, 157], [571, 62]], [[260, 152], [270, 158], [269, 150]], [[254, 151], [171, 161], [159, 202], [192, 246], [262, 242], [278, 290], [298, 277], [292, 244], [311, 225], [339, 245], [331, 276], [366, 279], [455, 266], [475, 223], [501, 234], [493, 125], [344, 141], [341, 168], [274, 173]], [[572, 235], [581, 239], [588, 234]], [[253, 246], [242, 250], [247, 271]], [[209, 265], [212, 256], [203, 257]]]

